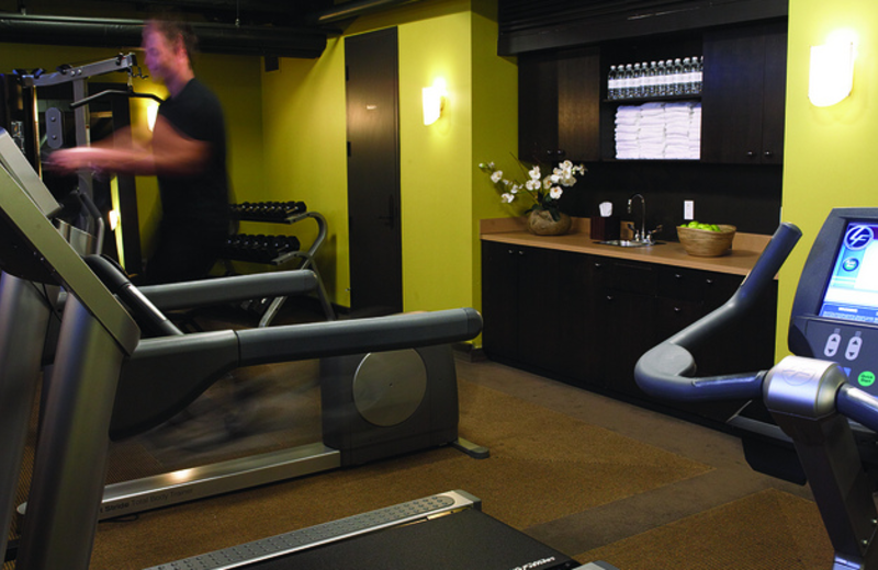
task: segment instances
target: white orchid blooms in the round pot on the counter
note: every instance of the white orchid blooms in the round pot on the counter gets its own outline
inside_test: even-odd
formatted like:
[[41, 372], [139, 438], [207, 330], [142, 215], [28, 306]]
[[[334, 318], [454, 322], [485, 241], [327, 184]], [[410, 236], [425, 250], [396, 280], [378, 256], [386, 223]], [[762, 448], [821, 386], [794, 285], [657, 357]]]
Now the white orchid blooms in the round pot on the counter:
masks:
[[482, 162], [479, 164], [479, 168], [491, 174], [491, 182], [494, 183], [494, 187], [500, 193], [500, 201], [503, 201], [504, 204], [511, 204], [521, 196], [522, 200], [532, 203], [530, 207], [525, 210], [526, 214], [544, 209], [552, 215], [552, 219], [555, 221], [561, 219], [561, 213], [558, 209], [558, 201], [564, 193], [562, 186], [573, 186], [576, 183], [576, 174], [585, 174], [585, 167], [582, 164], [574, 167], [573, 162], [565, 160], [561, 162], [558, 168], [553, 169], [551, 174], [543, 176], [539, 164], [528, 167], [520, 160], [518, 160], [518, 164], [528, 176], [527, 181], [524, 183], [505, 179], [503, 176], [503, 171], [498, 170], [494, 162]]

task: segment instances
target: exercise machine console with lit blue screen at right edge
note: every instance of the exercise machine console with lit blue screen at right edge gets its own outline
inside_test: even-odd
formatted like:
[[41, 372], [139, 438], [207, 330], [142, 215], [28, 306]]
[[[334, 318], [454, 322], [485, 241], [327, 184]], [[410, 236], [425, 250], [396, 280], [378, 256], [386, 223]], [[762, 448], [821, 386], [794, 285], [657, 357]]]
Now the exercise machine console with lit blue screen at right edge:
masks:
[[878, 208], [836, 208], [808, 256], [789, 328], [798, 356], [837, 363], [878, 395]]

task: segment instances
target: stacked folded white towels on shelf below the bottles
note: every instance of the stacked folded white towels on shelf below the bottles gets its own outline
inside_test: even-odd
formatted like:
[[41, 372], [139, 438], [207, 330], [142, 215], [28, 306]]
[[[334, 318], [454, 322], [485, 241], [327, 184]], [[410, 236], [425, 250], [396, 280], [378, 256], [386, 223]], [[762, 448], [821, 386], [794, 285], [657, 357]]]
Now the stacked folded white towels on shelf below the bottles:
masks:
[[617, 159], [697, 160], [700, 148], [700, 103], [653, 102], [616, 111]]

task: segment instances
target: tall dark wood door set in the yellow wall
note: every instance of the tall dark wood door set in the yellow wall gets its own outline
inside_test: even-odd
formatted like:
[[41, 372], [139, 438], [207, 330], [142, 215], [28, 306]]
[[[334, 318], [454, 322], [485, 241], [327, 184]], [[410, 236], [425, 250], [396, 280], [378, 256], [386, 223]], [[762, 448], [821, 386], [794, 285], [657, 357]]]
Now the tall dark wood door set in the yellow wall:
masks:
[[403, 310], [396, 29], [345, 39], [350, 301], [354, 312]]

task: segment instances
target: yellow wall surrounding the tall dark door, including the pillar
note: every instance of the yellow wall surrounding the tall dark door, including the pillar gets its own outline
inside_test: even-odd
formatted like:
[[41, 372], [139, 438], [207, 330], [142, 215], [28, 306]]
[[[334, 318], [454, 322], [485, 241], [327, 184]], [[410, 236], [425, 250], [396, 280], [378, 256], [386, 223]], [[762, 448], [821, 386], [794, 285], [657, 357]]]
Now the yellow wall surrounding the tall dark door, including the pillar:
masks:
[[[504, 212], [475, 164], [509, 155], [517, 137], [517, 71], [496, 56], [494, 5], [407, 4], [345, 31], [398, 27], [405, 310], [481, 305], [477, 219]], [[267, 187], [327, 218], [318, 265], [333, 300], [349, 306], [344, 36], [318, 60], [283, 59], [262, 86]], [[424, 126], [421, 88], [437, 77], [449, 89], [446, 114]]]

